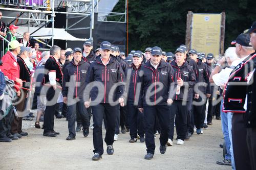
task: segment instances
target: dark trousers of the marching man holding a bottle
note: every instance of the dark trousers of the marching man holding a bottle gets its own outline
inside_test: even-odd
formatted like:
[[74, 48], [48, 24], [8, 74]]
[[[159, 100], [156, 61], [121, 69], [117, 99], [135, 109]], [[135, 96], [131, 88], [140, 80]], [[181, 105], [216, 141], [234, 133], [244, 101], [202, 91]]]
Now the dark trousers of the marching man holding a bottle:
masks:
[[[175, 126], [177, 132], [177, 138], [184, 140], [187, 134], [187, 102], [182, 105], [183, 101], [174, 101], [170, 106], [171, 114], [175, 113]], [[173, 112], [173, 113], [172, 113]], [[173, 135], [173, 134], [172, 134]]]

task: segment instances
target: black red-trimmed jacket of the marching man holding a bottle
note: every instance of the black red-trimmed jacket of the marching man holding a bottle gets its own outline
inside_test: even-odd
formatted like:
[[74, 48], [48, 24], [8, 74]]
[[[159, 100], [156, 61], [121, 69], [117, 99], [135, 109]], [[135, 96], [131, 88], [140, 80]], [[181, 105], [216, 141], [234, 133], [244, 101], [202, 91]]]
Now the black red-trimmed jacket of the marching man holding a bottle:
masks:
[[[182, 66], [178, 66], [175, 60], [173, 60], [170, 64], [174, 68], [176, 79], [181, 78], [184, 84], [185, 83], [188, 84], [188, 91], [185, 91], [186, 88], [185, 88], [185, 85], [183, 85], [180, 88], [180, 94], [175, 95], [175, 100], [188, 101], [188, 93], [194, 92], [194, 85], [196, 84], [196, 80], [197, 80], [195, 72], [193, 68], [190, 65], [188, 65], [187, 61], [185, 61]], [[184, 95], [185, 93], [187, 94]]]

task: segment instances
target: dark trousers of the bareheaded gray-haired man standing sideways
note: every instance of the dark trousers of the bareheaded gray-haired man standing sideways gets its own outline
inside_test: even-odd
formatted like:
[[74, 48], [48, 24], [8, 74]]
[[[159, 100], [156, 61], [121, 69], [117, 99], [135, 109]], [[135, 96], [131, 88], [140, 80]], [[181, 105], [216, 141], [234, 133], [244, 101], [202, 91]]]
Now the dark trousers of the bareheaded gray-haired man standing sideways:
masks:
[[53, 90], [53, 87], [50, 87], [46, 93], [47, 102], [44, 115], [44, 133], [54, 130], [54, 115], [59, 92], [59, 89]]

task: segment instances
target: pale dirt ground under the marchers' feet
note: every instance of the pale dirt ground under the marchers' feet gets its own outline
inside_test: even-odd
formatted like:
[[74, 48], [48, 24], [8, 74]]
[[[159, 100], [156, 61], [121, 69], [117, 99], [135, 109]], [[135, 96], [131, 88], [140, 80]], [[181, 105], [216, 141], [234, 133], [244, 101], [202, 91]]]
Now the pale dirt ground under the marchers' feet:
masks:
[[60, 132], [55, 138], [42, 136], [43, 130], [34, 127], [34, 120], [24, 121], [24, 131], [29, 133], [27, 137], [0, 143], [0, 169], [231, 169], [231, 166], [216, 164], [223, 159], [219, 147], [223, 135], [221, 121], [214, 119], [212, 123], [204, 134], [194, 134], [184, 145], [174, 141], [164, 155], [159, 152], [157, 135], [152, 160], [144, 159], [145, 143], [129, 143], [129, 133], [120, 134], [113, 144], [114, 155], [104, 152], [100, 161], [92, 161], [92, 130], [86, 138], [79, 132], [76, 140], [67, 141], [66, 118], [55, 119], [54, 130]]

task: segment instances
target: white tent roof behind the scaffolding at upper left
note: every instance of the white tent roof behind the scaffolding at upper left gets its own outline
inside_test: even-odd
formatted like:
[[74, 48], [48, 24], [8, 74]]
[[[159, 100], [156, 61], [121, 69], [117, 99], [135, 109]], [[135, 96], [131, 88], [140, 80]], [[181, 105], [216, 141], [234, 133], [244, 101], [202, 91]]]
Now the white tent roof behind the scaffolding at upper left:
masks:
[[[36, 27], [30, 27], [29, 32], [33, 33], [38, 28]], [[23, 33], [28, 31], [28, 27], [18, 27], [17, 32], [19, 34], [15, 34], [17, 38], [22, 38]], [[52, 38], [52, 28], [41, 28], [35, 33], [33, 33], [30, 37], [33, 37], [35, 39], [51, 39]], [[76, 38], [65, 31], [65, 29], [54, 29], [54, 39], [60, 39], [60, 40], [68, 40], [68, 41], [86, 41], [86, 38]]]

